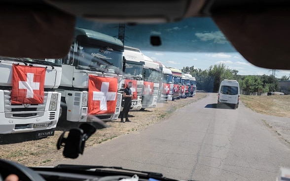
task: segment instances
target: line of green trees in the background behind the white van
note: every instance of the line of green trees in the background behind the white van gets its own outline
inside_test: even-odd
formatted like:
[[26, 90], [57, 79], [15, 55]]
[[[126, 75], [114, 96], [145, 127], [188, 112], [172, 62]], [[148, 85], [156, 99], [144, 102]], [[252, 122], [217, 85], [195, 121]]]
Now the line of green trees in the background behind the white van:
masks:
[[[205, 70], [195, 69], [194, 66], [186, 66], [181, 71], [195, 77], [197, 90], [200, 91], [217, 92], [220, 82], [224, 79], [237, 80], [240, 89], [243, 91], [280, 91], [279, 79], [273, 75], [238, 75], [238, 70], [230, 69], [224, 63], [211, 65]], [[280, 80], [289, 80], [289, 77], [283, 76]]]

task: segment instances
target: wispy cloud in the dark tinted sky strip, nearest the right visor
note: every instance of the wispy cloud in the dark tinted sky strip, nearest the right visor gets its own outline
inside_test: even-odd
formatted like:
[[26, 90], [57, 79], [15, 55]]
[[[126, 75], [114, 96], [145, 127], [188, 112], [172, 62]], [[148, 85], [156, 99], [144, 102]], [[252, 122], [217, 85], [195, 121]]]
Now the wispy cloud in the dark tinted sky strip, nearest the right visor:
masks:
[[213, 31], [205, 33], [197, 32], [195, 33], [195, 36], [197, 36], [201, 41], [213, 40], [214, 43], [218, 44], [225, 44], [228, 42], [225, 36], [221, 33], [221, 31]]

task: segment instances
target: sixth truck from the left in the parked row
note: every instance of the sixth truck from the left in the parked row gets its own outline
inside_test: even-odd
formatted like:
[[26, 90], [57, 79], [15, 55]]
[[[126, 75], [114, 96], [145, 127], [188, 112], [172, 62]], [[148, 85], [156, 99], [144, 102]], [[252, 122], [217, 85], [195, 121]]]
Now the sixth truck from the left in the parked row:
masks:
[[180, 99], [181, 98], [181, 77], [182, 72], [173, 67], [169, 67], [173, 75], [173, 94], [172, 99]]

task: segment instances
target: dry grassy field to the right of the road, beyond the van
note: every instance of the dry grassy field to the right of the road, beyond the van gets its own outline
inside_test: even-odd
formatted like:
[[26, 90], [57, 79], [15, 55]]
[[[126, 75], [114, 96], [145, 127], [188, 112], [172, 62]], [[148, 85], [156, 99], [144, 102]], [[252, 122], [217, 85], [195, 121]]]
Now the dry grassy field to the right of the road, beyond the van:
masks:
[[290, 95], [241, 95], [241, 101], [257, 113], [290, 118]]

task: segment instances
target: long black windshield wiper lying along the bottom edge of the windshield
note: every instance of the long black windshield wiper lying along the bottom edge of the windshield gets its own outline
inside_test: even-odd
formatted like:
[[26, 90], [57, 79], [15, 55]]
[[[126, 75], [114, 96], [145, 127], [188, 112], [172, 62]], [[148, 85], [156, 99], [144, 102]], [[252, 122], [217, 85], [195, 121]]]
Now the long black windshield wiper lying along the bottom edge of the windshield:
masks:
[[[68, 164], [60, 164], [55, 166], [54, 168], [60, 168], [60, 169], [76, 169], [76, 170], [89, 170], [89, 169], [96, 169], [96, 171], [100, 171], [98, 169], [114, 169], [114, 170], [122, 170], [122, 171], [129, 171], [129, 172], [139, 172], [146, 174], [148, 177], [163, 177], [160, 173], [155, 172], [145, 172], [145, 171], [139, 171], [139, 170], [131, 170], [131, 169], [124, 169], [122, 167], [105, 167], [105, 166], [92, 166], [92, 165], [68, 165]], [[103, 170], [101, 170], [103, 171]], [[108, 171], [108, 170], [106, 170]]]

